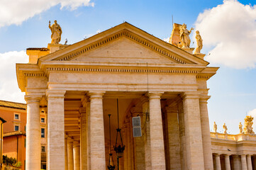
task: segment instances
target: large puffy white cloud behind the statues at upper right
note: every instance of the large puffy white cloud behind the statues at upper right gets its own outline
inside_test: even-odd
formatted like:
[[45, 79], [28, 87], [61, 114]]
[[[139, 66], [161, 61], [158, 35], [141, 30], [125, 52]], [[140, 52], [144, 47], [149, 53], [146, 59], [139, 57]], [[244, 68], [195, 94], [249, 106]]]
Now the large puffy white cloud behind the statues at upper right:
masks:
[[206, 60], [236, 69], [256, 66], [256, 6], [236, 0], [200, 13], [195, 26], [211, 55]]

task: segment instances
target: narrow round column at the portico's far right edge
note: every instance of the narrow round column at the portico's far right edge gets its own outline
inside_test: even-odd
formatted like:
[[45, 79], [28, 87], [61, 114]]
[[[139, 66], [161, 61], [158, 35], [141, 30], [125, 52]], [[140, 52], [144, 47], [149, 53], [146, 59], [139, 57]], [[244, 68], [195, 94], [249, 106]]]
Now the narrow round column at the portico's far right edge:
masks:
[[211, 152], [211, 136], [208, 118], [207, 101], [208, 96], [199, 98], [200, 115], [201, 115], [201, 132], [204, 151], [204, 169], [213, 170], [213, 157]]

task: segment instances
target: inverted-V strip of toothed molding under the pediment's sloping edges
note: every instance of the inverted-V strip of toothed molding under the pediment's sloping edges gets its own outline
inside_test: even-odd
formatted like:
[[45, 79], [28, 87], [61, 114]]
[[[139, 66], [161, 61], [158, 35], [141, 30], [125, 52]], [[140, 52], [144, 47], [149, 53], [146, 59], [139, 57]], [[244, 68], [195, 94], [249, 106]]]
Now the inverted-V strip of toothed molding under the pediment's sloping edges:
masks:
[[170, 59], [172, 59], [172, 60], [174, 60], [178, 63], [188, 64], [187, 61], [181, 60], [178, 57], [175, 57], [174, 55], [170, 54], [170, 52], [167, 52], [167, 50], [164, 50], [163, 48], [155, 45], [152, 42], [149, 42], [148, 40], [145, 40], [144, 38], [138, 37], [138, 35], [130, 33], [128, 30], [123, 30], [119, 33], [116, 33], [115, 35], [111, 35], [110, 37], [99, 40], [98, 42], [94, 42], [90, 45], [85, 46], [81, 50], [69, 53], [68, 55], [65, 55], [64, 57], [59, 57], [55, 60], [58, 60], [58, 61], [71, 60], [73, 57], [77, 57], [78, 55], [81, 55], [84, 52], [88, 52], [90, 50], [93, 50], [94, 48], [99, 47], [101, 45], [106, 45], [106, 43], [111, 42], [111, 41], [116, 40], [116, 39], [121, 38], [121, 37], [126, 37], [126, 38], [129, 38], [130, 40], [134, 40], [134, 41], [138, 42], [140, 45], [149, 47], [150, 49], [155, 50], [156, 52], [159, 52], [161, 55], [165, 55], [166, 57], [168, 57], [168, 58], [170, 58]]

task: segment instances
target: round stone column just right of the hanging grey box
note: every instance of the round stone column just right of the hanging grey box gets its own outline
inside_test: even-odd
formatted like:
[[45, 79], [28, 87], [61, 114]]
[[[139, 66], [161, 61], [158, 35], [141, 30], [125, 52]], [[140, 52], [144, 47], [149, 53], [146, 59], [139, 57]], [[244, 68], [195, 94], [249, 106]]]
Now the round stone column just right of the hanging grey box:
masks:
[[150, 152], [152, 169], [165, 169], [165, 146], [162, 131], [161, 93], [149, 93]]

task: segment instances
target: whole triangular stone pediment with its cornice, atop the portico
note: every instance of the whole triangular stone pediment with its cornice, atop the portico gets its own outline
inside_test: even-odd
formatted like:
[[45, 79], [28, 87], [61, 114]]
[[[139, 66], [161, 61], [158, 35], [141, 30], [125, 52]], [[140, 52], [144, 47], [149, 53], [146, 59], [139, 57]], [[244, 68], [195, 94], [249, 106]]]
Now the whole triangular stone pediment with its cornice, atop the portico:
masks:
[[125, 62], [152, 64], [199, 64], [208, 62], [189, 54], [129, 23], [41, 57], [40, 62]]

